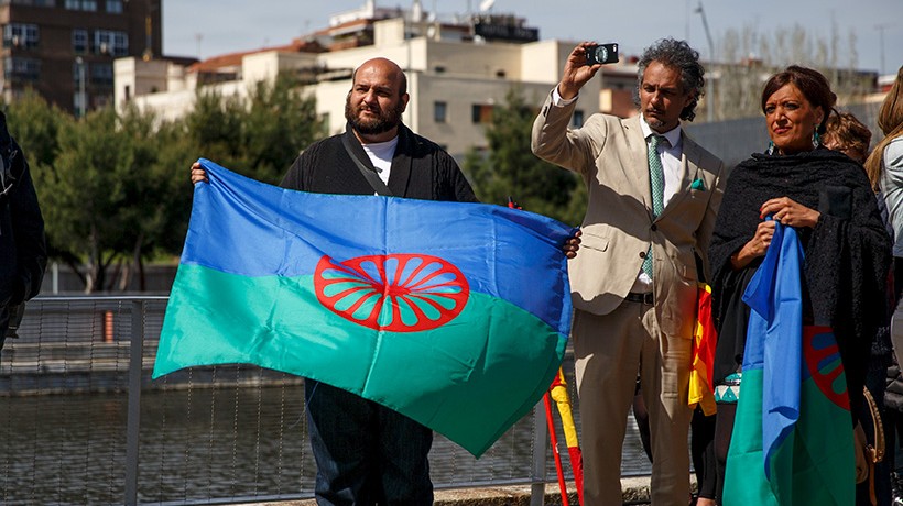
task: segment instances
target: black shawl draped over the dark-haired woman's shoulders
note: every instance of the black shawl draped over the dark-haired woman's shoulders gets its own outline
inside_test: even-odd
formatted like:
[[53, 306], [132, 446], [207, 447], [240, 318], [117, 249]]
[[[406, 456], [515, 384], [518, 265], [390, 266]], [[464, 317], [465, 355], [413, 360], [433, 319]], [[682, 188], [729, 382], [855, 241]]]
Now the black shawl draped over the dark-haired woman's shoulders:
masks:
[[891, 240], [862, 166], [825, 148], [788, 156], [753, 154], [727, 182], [709, 248], [719, 331], [715, 381], [742, 363], [749, 310], [740, 296], [762, 261], [733, 271], [730, 256], [754, 235], [760, 206], [784, 196], [822, 213], [814, 229], [797, 229], [805, 252], [804, 315], [808, 323], [834, 328], [856, 400], [872, 338], [888, 316]]

